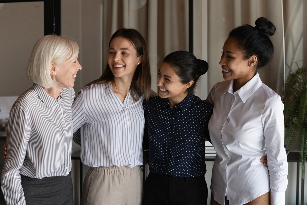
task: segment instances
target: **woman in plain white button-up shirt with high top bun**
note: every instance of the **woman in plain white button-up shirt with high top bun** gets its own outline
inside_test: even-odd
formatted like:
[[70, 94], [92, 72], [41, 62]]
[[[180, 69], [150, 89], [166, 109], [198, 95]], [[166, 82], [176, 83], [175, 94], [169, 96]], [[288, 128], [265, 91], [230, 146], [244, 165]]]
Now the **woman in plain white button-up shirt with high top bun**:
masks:
[[[258, 68], [273, 57], [266, 18], [233, 29], [220, 65], [225, 81], [207, 101], [213, 106], [209, 133], [217, 155], [212, 170], [211, 204], [285, 204], [288, 164], [284, 149], [283, 103], [259, 78]], [[267, 154], [267, 166], [257, 158]], [[227, 203], [228, 201], [228, 203]]]

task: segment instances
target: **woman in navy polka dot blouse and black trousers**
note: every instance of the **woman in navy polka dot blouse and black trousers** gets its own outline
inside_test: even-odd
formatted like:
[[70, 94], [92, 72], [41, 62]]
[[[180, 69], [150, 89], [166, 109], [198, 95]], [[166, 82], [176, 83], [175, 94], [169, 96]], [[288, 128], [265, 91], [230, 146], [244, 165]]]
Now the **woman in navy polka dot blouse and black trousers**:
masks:
[[192, 53], [170, 53], [158, 70], [159, 96], [143, 102], [146, 205], [207, 204], [205, 138], [210, 140], [212, 106], [193, 94], [207, 70], [208, 63]]

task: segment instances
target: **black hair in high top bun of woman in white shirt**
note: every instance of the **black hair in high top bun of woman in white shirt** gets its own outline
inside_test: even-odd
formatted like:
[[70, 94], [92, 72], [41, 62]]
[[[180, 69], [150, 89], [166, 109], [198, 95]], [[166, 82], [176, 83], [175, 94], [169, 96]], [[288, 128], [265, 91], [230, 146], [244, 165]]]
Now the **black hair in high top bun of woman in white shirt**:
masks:
[[239, 49], [244, 53], [244, 60], [257, 56], [257, 68], [265, 66], [272, 60], [274, 46], [269, 36], [274, 35], [276, 27], [264, 17], [260, 17], [253, 27], [248, 24], [233, 29], [228, 37], [235, 38]]

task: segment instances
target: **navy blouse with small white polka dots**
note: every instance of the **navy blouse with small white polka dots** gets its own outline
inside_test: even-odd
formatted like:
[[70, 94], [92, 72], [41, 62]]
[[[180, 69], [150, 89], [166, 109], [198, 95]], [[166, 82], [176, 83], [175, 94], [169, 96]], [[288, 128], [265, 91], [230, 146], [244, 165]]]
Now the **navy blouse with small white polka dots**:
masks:
[[189, 93], [174, 108], [168, 98], [143, 102], [145, 132], [143, 148], [149, 150], [149, 170], [176, 177], [206, 173], [205, 138], [212, 105]]

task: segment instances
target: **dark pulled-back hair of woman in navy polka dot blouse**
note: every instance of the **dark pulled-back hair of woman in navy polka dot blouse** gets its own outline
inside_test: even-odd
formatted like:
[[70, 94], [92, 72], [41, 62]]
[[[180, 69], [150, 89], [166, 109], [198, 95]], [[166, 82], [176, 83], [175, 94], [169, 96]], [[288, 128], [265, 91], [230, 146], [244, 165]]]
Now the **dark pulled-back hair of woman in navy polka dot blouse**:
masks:
[[194, 93], [198, 78], [208, 70], [206, 61], [197, 59], [192, 53], [183, 50], [169, 53], [163, 62], [168, 63], [175, 70], [182, 84], [194, 81], [193, 85], [187, 89], [188, 93]]

